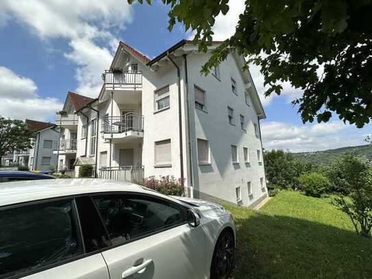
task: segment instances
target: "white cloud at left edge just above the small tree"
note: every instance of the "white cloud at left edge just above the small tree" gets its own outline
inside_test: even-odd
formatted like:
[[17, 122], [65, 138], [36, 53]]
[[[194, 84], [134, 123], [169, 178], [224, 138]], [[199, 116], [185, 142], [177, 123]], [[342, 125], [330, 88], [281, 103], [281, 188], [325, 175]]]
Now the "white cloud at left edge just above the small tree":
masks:
[[56, 98], [42, 98], [33, 80], [0, 66], [0, 112], [12, 119], [51, 120], [63, 104]]

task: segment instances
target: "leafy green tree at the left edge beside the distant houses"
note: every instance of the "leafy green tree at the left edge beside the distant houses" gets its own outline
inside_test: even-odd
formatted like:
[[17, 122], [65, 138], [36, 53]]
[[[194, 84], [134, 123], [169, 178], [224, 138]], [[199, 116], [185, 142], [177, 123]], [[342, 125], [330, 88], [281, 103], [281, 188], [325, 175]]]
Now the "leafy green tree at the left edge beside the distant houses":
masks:
[[31, 148], [30, 139], [33, 135], [23, 121], [0, 116], [0, 167], [3, 156], [8, 152]]

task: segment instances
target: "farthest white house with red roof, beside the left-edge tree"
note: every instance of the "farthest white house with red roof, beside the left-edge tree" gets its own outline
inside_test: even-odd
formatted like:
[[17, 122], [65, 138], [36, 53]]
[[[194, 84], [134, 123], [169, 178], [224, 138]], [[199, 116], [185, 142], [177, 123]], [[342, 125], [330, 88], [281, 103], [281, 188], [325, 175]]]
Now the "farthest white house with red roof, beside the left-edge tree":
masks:
[[[60, 132], [53, 123], [26, 119], [27, 129], [34, 132], [32, 148], [27, 151], [15, 151], [19, 164], [25, 164], [30, 171], [45, 171], [57, 167], [57, 156], [53, 154], [53, 145], [57, 143]], [[17, 154], [18, 152], [18, 154]]]

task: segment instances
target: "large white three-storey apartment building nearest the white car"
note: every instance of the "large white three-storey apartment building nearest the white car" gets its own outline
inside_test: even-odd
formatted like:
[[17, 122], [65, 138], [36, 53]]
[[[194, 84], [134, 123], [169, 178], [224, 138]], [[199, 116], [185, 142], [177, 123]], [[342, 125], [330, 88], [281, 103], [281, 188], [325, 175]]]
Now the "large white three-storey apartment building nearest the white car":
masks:
[[97, 99], [69, 110], [77, 116], [75, 165], [90, 163], [97, 176], [121, 180], [173, 175], [203, 199], [251, 207], [266, 199], [266, 116], [251, 75], [234, 52], [201, 75], [209, 57], [188, 40], [153, 60], [119, 43]]

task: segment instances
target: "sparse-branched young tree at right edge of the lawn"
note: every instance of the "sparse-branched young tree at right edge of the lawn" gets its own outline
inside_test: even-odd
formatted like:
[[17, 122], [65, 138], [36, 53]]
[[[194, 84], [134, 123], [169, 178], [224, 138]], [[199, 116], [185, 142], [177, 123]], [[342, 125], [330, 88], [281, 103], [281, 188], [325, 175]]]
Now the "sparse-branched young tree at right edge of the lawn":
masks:
[[372, 228], [372, 165], [369, 160], [345, 154], [340, 160], [343, 163], [343, 178], [338, 183], [348, 196], [334, 197], [332, 204], [346, 213], [354, 224], [357, 234], [370, 237]]

